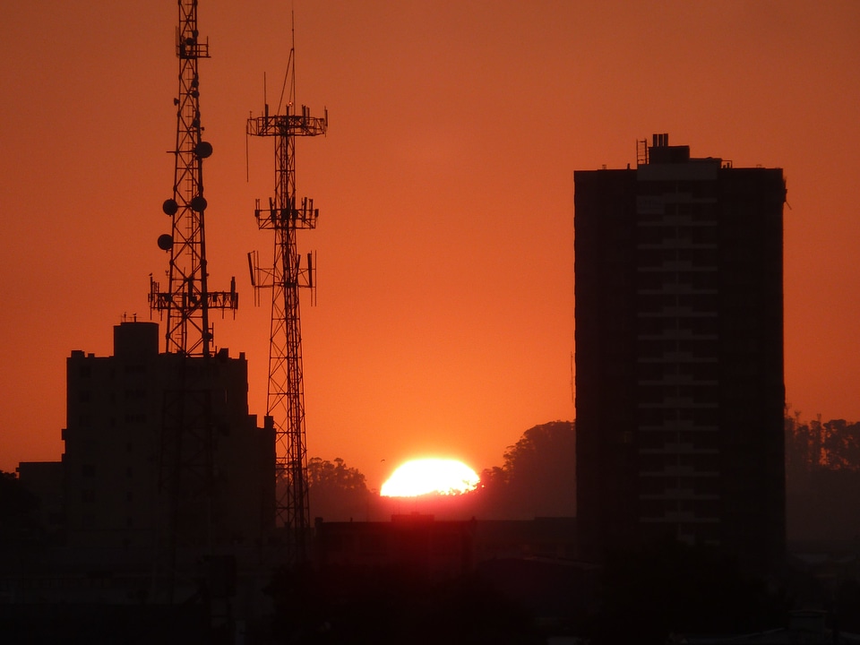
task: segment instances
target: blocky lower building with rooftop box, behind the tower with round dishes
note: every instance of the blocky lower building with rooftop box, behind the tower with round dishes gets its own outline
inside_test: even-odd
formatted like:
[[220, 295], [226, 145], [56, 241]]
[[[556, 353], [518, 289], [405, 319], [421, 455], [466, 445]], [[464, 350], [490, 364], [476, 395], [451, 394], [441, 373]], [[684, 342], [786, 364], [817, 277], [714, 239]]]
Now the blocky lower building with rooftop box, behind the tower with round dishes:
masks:
[[67, 361], [63, 472], [70, 546], [146, 549], [159, 532], [165, 538], [168, 513], [176, 512], [166, 483], [185, 465], [166, 450], [176, 437], [164, 437], [163, 405], [165, 392], [180, 387], [182, 360], [197, 374], [194, 387], [208, 393], [212, 432], [205, 446], [209, 488], [186, 501], [192, 506], [180, 510], [186, 517], [179, 520], [185, 527], [189, 520], [207, 522], [214, 546], [253, 546], [273, 526], [274, 434], [248, 414], [245, 355], [231, 358], [226, 349], [211, 359], [159, 354], [158, 323], [128, 322], [114, 327], [113, 356], [73, 351]]

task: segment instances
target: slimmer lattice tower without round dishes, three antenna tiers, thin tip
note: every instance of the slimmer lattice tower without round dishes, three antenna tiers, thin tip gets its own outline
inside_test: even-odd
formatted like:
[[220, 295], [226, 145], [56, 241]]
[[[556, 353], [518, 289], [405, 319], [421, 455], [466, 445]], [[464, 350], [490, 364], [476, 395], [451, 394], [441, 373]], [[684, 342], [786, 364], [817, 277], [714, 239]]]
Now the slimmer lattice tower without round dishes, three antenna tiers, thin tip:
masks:
[[259, 228], [274, 232], [271, 269], [261, 270], [251, 261], [255, 289], [271, 288], [269, 334], [269, 391], [266, 414], [271, 417], [276, 437], [277, 521], [288, 531], [288, 561], [302, 563], [310, 529], [307, 497], [307, 453], [305, 446], [305, 391], [302, 383], [302, 330], [299, 317], [299, 288], [314, 288], [313, 255], [305, 266], [298, 254], [297, 230], [316, 228], [319, 209], [306, 197], [296, 198], [296, 137], [324, 134], [328, 114], [310, 116], [302, 106], [294, 114], [294, 53], [290, 51], [288, 77], [290, 94], [286, 114], [269, 114], [248, 119], [247, 134], [275, 140], [275, 190], [269, 208], [257, 201], [254, 216]]

